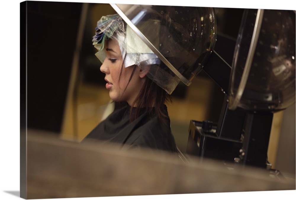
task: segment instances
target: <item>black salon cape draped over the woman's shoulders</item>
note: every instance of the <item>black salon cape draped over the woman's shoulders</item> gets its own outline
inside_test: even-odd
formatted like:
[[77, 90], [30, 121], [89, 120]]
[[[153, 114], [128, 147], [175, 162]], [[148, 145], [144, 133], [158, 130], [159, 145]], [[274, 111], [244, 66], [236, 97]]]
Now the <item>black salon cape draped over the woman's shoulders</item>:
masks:
[[177, 152], [167, 107], [163, 106], [167, 117], [162, 122], [157, 116], [149, 117], [149, 114], [143, 112], [130, 122], [131, 107], [126, 104], [112, 112], [86, 138]]

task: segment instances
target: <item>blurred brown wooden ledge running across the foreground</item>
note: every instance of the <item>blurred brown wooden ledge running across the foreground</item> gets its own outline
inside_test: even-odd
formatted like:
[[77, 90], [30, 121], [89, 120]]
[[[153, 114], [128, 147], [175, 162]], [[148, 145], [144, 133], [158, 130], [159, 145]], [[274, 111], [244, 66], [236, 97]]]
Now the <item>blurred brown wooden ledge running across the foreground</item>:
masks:
[[295, 190], [268, 170], [28, 130], [27, 199]]

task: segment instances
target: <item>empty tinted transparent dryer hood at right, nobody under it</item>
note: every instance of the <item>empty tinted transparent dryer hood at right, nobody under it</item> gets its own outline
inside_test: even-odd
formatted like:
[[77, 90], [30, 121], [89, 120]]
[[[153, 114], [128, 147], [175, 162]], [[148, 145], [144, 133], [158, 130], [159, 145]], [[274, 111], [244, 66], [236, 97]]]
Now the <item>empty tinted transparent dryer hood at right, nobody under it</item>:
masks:
[[295, 103], [295, 11], [246, 9], [237, 38], [229, 109], [274, 112]]

